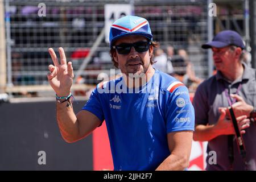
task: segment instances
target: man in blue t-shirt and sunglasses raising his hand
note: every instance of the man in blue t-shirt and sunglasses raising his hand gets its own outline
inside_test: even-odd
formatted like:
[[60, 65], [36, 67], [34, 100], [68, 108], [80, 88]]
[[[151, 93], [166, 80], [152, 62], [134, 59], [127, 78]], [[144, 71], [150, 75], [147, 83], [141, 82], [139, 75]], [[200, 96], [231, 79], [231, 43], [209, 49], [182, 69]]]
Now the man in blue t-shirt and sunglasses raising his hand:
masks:
[[[148, 21], [124, 16], [110, 28], [110, 52], [122, 76], [97, 85], [82, 110], [72, 109], [73, 68], [62, 48], [48, 80], [56, 92], [57, 122], [67, 142], [89, 135], [106, 122], [115, 170], [184, 170], [188, 167], [194, 110], [188, 89], [152, 68]], [[102, 151], [104, 152], [104, 151]]]

